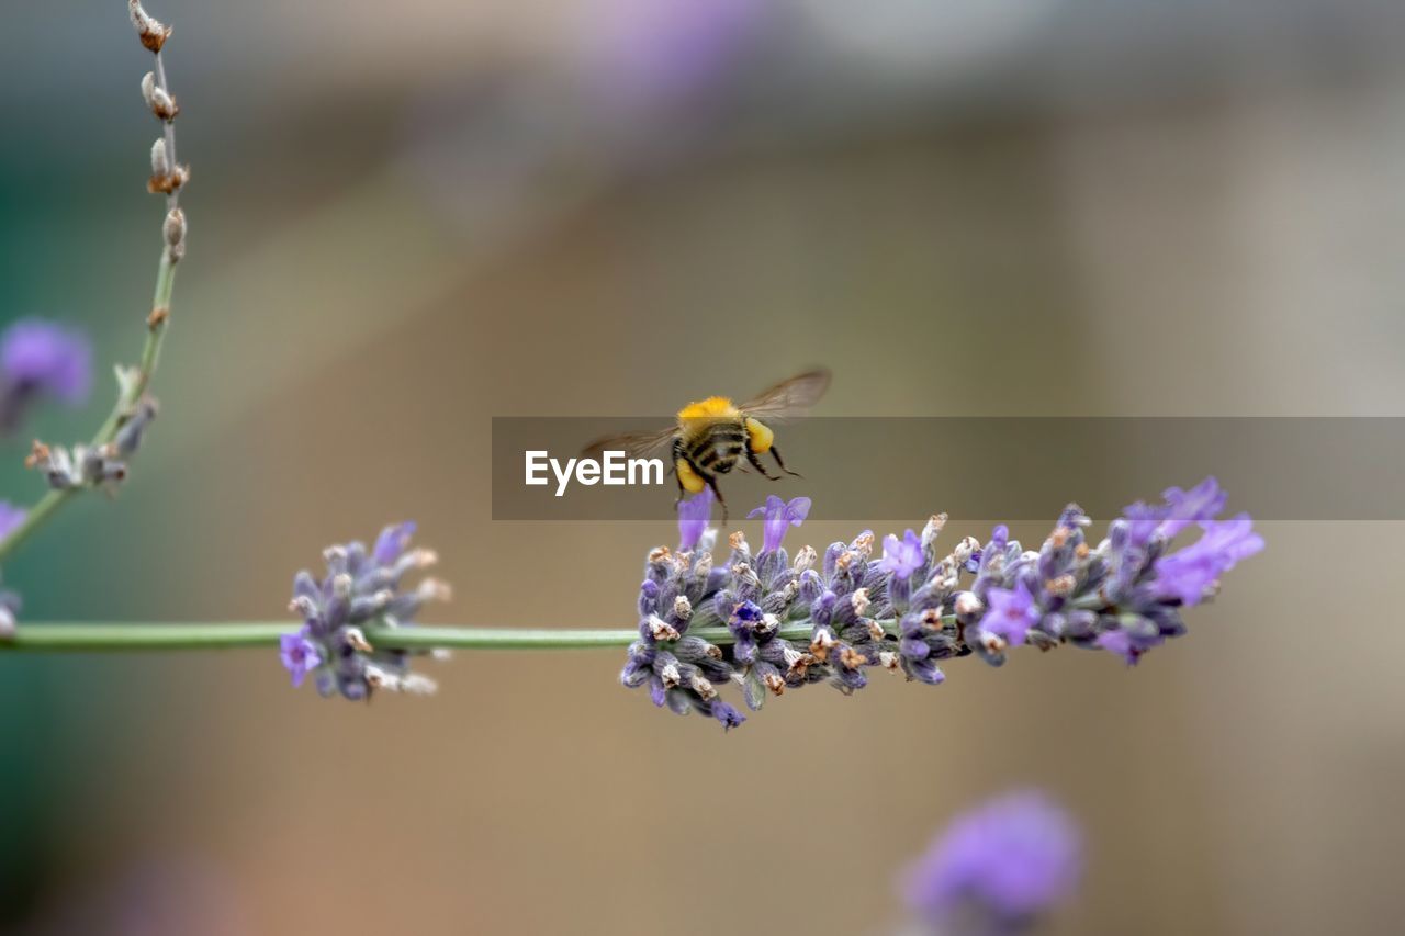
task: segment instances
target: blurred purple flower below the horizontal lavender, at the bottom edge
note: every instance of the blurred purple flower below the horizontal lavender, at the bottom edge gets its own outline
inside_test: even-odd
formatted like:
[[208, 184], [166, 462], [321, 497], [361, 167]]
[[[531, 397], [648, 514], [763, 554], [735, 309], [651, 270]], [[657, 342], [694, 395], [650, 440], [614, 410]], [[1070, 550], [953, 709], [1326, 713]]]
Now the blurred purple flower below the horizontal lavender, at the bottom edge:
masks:
[[1068, 898], [1082, 876], [1082, 835], [1037, 791], [1012, 793], [957, 819], [910, 869], [908, 905], [943, 925], [982, 919], [998, 930]]

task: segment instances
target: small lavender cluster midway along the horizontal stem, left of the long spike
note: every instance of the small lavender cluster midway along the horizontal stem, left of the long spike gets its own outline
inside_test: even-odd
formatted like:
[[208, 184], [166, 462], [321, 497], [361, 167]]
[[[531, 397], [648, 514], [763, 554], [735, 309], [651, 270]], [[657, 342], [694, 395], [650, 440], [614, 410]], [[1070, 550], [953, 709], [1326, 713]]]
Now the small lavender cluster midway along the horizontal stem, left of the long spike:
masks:
[[434, 691], [431, 679], [410, 672], [409, 652], [378, 649], [364, 630], [409, 625], [426, 602], [448, 597], [448, 586], [434, 579], [400, 590], [406, 573], [438, 558], [409, 548], [413, 533], [413, 523], [399, 523], [382, 530], [370, 551], [361, 542], [330, 547], [320, 580], [306, 571], [292, 579], [289, 610], [302, 616], [303, 627], [281, 638], [281, 655], [294, 686], [312, 673], [320, 694], [351, 700], [368, 698], [377, 689]]

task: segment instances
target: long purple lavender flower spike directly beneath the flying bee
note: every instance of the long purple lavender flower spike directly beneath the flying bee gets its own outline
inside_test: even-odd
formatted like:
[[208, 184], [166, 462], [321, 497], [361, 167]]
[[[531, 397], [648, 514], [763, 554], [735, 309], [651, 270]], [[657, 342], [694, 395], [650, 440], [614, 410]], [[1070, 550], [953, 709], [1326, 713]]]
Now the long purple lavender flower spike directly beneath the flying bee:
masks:
[[[620, 682], [648, 686], [655, 706], [732, 727], [739, 715], [719, 697], [729, 683], [757, 710], [812, 683], [854, 693], [873, 668], [936, 686], [946, 679], [941, 661], [974, 654], [999, 666], [1021, 645], [1072, 645], [1135, 663], [1184, 634], [1182, 609], [1263, 548], [1248, 514], [1214, 519], [1224, 500], [1213, 478], [1189, 492], [1172, 488], [1166, 503], [1128, 507], [1097, 545], [1085, 535], [1089, 517], [1069, 505], [1037, 551], [1005, 526], [984, 545], [967, 537], [939, 550], [946, 517], [936, 514], [920, 535], [885, 537], [881, 559], [871, 558], [865, 530], [823, 552], [802, 547], [792, 561], [781, 537], [809, 510], [804, 498], [770, 498], [753, 510], [766, 520], [762, 552], [733, 533], [725, 561], [712, 555], [712, 531], [691, 533], [684, 524], [700, 521], [686, 517], [687, 548], [659, 547], [645, 562], [639, 639]], [[1186, 517], [1204, 534], [1170, 551], [1166, 524]]]

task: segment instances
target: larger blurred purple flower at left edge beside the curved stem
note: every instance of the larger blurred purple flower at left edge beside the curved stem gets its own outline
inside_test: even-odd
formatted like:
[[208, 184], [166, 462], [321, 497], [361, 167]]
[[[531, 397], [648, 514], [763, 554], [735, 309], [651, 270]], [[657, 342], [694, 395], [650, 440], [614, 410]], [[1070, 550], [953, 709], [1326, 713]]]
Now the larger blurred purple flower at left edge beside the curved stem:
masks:
[[44, 319], [15, 322], [0, 334], [0, 429], [17, 429], [39, 396], [81, 403], [91, 371], [93, 350], [83, 333]]

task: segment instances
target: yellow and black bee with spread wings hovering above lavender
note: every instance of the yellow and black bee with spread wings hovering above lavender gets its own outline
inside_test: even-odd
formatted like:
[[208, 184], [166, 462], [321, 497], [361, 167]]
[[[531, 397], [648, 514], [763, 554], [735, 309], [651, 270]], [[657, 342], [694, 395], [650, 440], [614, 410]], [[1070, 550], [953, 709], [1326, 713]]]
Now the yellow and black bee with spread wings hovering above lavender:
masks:
[[780, 475], [762, 465], [760, 457], [770, 453], [777, 468], [798, 478], [798, 472], [785, 467], [776, 447], [776, 433], [762, 420], [797, 416], [813, 406], [826, 389], [829, 371], [816, 368], [784, 379], [740, 405], [726, 396], [708, 396], [680, 409], [673, 426], [600, 438], [586, 446], [582, 455], [622, 450], [631, 457], [643, 457], [672, 443], [679, 500], [711, 488], [722, 505], [722, 523], [726, 523], [726, 500], [717, 486], [718, 475], [728, 474], [745, 458], [760, 475], [780, 481]]

